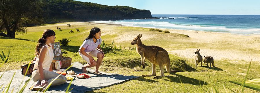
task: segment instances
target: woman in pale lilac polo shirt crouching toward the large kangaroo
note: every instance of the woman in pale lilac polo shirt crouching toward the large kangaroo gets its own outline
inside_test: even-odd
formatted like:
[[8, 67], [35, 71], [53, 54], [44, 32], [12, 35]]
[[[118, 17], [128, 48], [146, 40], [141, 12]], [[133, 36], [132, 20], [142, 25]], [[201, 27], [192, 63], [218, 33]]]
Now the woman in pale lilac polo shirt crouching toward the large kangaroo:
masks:
[[[83, 41], [82, 45], [79, 48], [79, 55], [88, 62], [82, 67], [82, 72], [87, 73], [86, 68], [91, 68], [96, 66], [96, 73], [101, 74], [99, 66], [105, 56], [104, 52], [100, 48], [101, 44], [101, 30], [97, 27], [94, 27], [90, 30], [88, 37]], [[95, 61], [93, 57], [98, 59]]]

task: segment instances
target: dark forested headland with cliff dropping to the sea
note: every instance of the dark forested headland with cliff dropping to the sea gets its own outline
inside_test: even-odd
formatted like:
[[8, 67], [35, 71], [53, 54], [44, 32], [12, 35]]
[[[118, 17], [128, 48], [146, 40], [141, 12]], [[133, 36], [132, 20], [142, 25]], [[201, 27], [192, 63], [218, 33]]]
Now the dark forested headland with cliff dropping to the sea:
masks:
[[83, 21], [152, 18], [149, 10], [127, 6], [108, 6], [73, 0], [44, 0], [43, 15], [47, 19]]

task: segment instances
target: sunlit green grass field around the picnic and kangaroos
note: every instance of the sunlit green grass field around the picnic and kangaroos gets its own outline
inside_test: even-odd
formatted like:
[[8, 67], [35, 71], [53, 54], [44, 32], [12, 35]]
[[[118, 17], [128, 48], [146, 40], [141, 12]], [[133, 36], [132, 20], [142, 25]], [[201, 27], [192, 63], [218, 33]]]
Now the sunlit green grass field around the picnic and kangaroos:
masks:
[[[27, 34], [16, 35], [16, 39], [1, 37], [0, 36], [0, 49], [4, 53], [7, 53], [9, 49], [10, 59], [8, 63], [0, 65], [0, 71], [3, 72], [5, 66], [8, 64], [10, 68], [7, 70], [21, 69], [21, 65], [28, 64], [34, 58], [35, 46], [39, 37], [41, 37], [44, 29], [53, 29], [56, 32], [56, 39], [58, 41], [62, 38], [68, 38], [71, 40], [69, 46], [62, 47], [63, 56], [72, 58], [72, 62], [80, 62], [86, 64], [86, 62], [79, 56], [77, 50], [83, 40], [88, 36], [89, 31], [93, 27], [101, 28], [102, 40], [106, 44], [111, 44], [115, 41], [115, 45], [121, 45], [122, 51], [116, 51], [114, 53], [107, 53], [101, 64], [100, 71], [105, 73], [117, 73], [123, 75], [142, 76], [151, 74], [151, 63], [146, 60], [146, 68], [141, 66], [141, 58], [136, 51], [129, 50], [128, 47], [133, 47], [130, 42], [133, 38], [129, 38], [127, 34], [145, 33], [146, 35], [157, 35], [158, 37], [151, 37], [143, 40], [146, 45], [157, 45], [166, 50], [196, 48], [196, 43], [187, 42], [190, 38], [186, 35], [177, 33], [162, 33], [157, 31], [149, 31], [148, 28], [141, 27], [126, 27], [126, 26], [114, 26], [103, 24], [91, 24], [91, 23], [70, 23], [72, 27], [68, 27], [67, 23], [47, 24], [35, 27], [28, 27]], [[61, 27], [62, 31], [56, 30], [56, 26]], [[79, 29], [80, 32], [76, 32], [75, 29]], [[73, 30], [74, 33], [68, 33]], [[125, 36], [125, 38], [121, 38]], [[159, 37], [166, 37], [158, 39]], [[145, 38], [144, 36], [142, 38]], [[142, 39], [141, 38], [141, 39]], [[170, 38], [170, 39], [168, 39]], [[118, 41], [118, 39], [125, 39]], [[118, 41], [118, 42], [117, 42]], [[167, 42], [167, 43], [164, 43]], [[183, 46], [185, 44], [185, 46]], [[203, 47], [203, 46], [202, 46]], [[223, 47], [223, 45], [219, 45]], [[224, 49], [232, 49], [232, 46], [225, 47]], [[255, 49], [258, 50], [258, 49]], [[255, 51], [254, 49], [248, 49], [248, 51]], [[120, 84], [102, 88], [100, 90], [94, 90], [92, 92], [209, 92], [215, 90], [215, 86], [219, 92], [241, 92], [240, 86], [228, 82], [228, 80], [234, 80], [242, 82], [246, 76], [248, 65], [250, 60], [214, 60], [214, 66], [218, 68], [206, 68], [195, 67], [194, 60], [189, 58], [181, 58], [177, 55], [169, 54], [171, 59], [172, 70], [179, 70], [175, 74], [168, 74], [164, 70], [166, 77], [160, 79], [153, 79], [152, 77], [140, 77], [135, 78]], [[233, 61], [241, 64], [233, 64]], [[204, 63], [203, 63], [204, 64]], [[247, 80], [260, 77], [260, 64], [258, 62], [252, 62]], [[94, 69], [94, 68], [93, 68]], [[156, 74], [160, 75], [159, 67], [156, 67]], [[227, 80], [225, 80], [227, 79]], [[180, 81], [181, 80], [181, 81]], [[87, 82], [86, 82], [87, 83]], [[253, 83], [260, 85], [259, 83]], [[225, 89], [224, 89], [225, 87]], [[229, 90], [230, 88], [231, 90]], [[255, 92], [248, 88], [244, 88], [244, 92]]]

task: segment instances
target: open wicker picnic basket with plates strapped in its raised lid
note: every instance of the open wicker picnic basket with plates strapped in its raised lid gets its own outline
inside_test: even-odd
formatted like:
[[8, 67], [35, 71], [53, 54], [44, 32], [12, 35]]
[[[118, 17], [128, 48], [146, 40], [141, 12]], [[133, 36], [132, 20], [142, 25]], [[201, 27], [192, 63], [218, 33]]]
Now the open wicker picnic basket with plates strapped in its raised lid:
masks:
[[62, 52], [61, 52], [61, 48], [60, 48], [60, 42], [55, 42], [53, 43], [54, 45], [54, 57], [53, 57], [53, 61], [51, 62], [52, 64], [52, 69], [56, 70], [55, 68], [55, 63], [56, 61], [60, 60], [62, 62], [62, 67], [61, 68], [66, 68], [69, 67], [71, 65], [71, 58], [69, 57], [64, 57], [62, 56]]

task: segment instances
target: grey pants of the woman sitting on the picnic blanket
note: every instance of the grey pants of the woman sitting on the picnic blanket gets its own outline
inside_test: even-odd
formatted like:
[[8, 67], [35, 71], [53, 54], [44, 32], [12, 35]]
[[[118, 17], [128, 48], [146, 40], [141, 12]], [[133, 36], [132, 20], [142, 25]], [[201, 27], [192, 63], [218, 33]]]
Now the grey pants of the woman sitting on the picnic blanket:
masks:
[[[47, 80], [47, 82], [50, 84], [51, 80], [55, 79], [60, 74], [57, 74], [55, 72], [50, 72], [47, 70], [43, 70], [43, 75], [44, 75], [44, 78]], [[38, 80], [41, 81], [38, 70], [34, 70], [32, 72], [31, 77], [34, 80], [34, 82], [36, 82]], [[51, 86], [61, 85], [61, 84], [64, 84], [66, 81], [67, 81], [67, 78], [65, 76], [61, 75], [54, 82], [52, 82]]]

